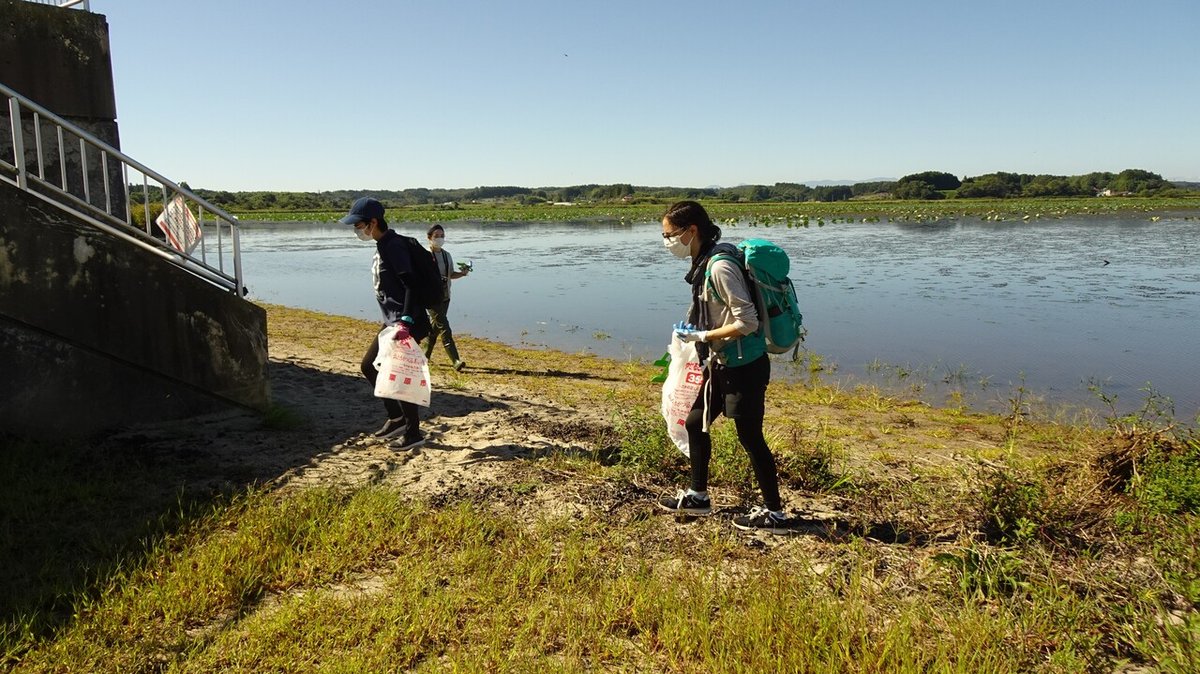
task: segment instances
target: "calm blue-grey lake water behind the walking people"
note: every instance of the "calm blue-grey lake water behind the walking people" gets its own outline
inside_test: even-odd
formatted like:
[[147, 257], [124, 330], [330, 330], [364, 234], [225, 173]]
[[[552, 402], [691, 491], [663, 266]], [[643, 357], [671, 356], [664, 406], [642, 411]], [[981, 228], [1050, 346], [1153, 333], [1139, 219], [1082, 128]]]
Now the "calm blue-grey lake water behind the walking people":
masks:
[[[336, 223], [242, 223], [251, 296], [376, 320], [373, 245]], [[426, 224], [398, 223], [425, 242]], [[455, 331], [511, 344], [654, 360], [685, 312], [686, 263], [659, 223], [448, 223], [475, 271], [454, 284]], [[792, 258], [827, 380], [1010, 409], [1018, 387], [1103, 410], [1090, 383], [1138, 409], [1151, 384], [1176, 416], [1200, 411], [1200, 218], [1070, 216], [1030, 222], [724, 224]], [[438, 349], [434, 362], [444, 359]], [[470, 354], [463, 354], [470, 360]], [[776, 377], [800, 377], [786, 360]]]

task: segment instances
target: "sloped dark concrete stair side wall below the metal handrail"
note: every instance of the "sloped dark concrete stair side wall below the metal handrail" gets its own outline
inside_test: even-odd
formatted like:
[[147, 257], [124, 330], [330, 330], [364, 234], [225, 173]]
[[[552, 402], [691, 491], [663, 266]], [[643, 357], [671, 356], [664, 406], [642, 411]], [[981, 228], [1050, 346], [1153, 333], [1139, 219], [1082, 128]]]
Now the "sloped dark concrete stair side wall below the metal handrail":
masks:
[[0, 182], [0, 431], [263, 409], [266, 314]]

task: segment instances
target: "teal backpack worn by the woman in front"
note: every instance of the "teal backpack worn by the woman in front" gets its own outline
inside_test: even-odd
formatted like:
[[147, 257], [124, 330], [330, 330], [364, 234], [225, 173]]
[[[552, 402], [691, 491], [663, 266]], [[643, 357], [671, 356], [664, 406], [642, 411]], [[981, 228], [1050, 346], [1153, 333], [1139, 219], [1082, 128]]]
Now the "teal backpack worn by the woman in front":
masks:
[[725, 259], [737, 263], [745, 271], [758, 307], [758, 333], [767, 339], [767, 351], [786, 354], [791, 350], [792, 360], [798, 359], [800, 342], [808, 330], [796, 300], [796, 287], [787, 276], [791, 271], [787, 252], [763, 239], [746, 239], [737, 247], [740, 259], [718, 253], [708, 260], [709, 269], [714, 261]]

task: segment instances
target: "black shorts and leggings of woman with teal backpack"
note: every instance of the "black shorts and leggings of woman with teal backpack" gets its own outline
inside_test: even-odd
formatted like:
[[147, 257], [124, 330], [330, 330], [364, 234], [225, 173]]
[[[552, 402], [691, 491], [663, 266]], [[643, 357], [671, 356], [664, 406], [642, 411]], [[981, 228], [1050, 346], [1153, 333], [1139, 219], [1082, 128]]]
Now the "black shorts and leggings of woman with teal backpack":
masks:
[[[712, 386], [708, 386], [712, 381]], [[704, 423], [704, 391], [708, 391], [708, 422], [718, 415], [733, 420], [738, 441], [750, 455], [762, 499], [769, 510], [782, 510], [779, 499], [779, 474], [775, 457], [762, 435], [762, 417], [766, 414], [767, 384], [770, 381], [770, 359], [766, 354], [742, 367], [725, 367], [713, 362], [704, 371], [704, 387], [688, 414], [688, 449], [691, 455], [691, 488], [708, 491], [708, 463], [713, 458], [713, 439], [701, 431]]]

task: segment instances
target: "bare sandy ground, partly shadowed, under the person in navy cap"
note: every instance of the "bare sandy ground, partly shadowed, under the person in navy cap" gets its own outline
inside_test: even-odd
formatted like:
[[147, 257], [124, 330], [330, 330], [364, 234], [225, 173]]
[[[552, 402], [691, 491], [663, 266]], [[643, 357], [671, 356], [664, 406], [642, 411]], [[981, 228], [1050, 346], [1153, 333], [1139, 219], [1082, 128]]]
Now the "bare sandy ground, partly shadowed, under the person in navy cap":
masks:
[[[271, 397], [286, 419], [275, 428], [251, 411], [194, 417], [190, 423], [140, 425], [110, 438], [140, 451], [173, 456], [192, 483], [212, 488], [257, 482], [280, 489], [388, 483], [413, 497], [486, 491], [504, 483], [516, 458], [554, 451], [587, 451], [581, 443], [550, 438], [556, 425], [599, 425], [604, 420], [564, 409], [517, 387], [475, 385], [455, 378], [421, 410], [424, 447], [398, 452], [371, 433], [384, 421], [380, 402], [359, 373], [358, 362], [302, 345], [271, 345]], [[191, 467], [191, 470], [186, 470]]]

